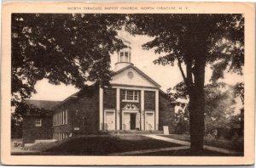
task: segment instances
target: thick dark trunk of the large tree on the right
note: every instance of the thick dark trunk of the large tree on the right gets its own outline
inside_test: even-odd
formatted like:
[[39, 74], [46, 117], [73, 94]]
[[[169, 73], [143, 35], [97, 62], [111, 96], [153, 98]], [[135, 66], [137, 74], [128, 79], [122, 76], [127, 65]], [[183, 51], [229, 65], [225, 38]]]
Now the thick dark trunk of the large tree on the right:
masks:
[[[203, 44], [202, 44], [203, 45]], [[201, 46], [201, 48], [204, 48]], [[205, 67], [206, 58], [204, 50], [195, 56], [193, 68], [194, 86], [189, 91], [189, 132], [191, 154], [198, 155], [203, 152], [205, 133]], [[200, 57], [201, 56], [201, 57]]]

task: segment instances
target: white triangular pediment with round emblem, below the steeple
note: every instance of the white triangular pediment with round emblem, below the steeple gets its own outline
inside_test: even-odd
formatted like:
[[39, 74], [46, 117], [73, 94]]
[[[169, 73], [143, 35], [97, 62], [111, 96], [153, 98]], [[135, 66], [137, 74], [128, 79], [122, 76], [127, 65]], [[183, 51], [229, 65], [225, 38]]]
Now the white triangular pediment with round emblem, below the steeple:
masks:
[[110, 83], [137, 87], [160, 87], [159, 84], [134, 66], [128, 66], [124, 70], [119, 70], [113, 75]]

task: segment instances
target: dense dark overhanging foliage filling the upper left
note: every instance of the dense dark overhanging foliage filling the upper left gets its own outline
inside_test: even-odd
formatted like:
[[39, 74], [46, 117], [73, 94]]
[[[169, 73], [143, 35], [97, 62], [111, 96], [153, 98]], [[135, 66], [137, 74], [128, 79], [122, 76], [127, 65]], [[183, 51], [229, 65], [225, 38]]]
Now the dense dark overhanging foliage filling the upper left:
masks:
[[83, 88], [108, 84], [110, 53], [124, 47], [117, 37], [122, 14], [12, 14], [12, 105], [30, 98], [37, 81]]

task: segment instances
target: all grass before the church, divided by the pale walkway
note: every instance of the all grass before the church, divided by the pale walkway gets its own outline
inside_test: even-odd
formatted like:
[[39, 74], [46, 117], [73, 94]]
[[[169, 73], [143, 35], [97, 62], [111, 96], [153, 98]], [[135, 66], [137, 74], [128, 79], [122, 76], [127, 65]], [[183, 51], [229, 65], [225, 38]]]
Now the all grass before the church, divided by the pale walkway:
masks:
[[[172, 137], [175, 139], [189, 141], [189, 135], [162, 135], [163, 137]], [[243, 143], [227, 140], [205, 139], [205, 144], [219, 148], [236, 149], [243, 146]], [[15, 155], [108, 155], [113, 153], [122, 153], [155, 148], [170, 148], [181, 146], [176, 143], [168, 143], [141, 135], [90, 135], [80, 137], [70, 137], [55, 143], [37, 143], [28, 148], [36, 153], [17, 153]], [[239, 148], [238, 148], [239, 147]], [[241, 152], [238, 150], [238, 152]], [[133, 155], [133, 154], [131, 154]], [[161, 151], [148, 154], [134, 154], [143, 156], [191, 156], [189, 149], [180, 149], [176, 151]], [[205, 150], [201, 156], [229, 156]]]

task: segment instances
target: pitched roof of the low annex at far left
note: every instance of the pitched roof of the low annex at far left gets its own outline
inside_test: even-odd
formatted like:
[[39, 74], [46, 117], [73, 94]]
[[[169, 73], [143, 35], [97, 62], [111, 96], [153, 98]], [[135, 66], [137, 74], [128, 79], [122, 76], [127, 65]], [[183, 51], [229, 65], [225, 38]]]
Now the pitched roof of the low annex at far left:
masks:
[[25, 104], [30, 104], [38, 107], [39, 109], [53, 109], [61, 101], [49, 101], [49, 100], [24, 100]]

